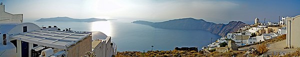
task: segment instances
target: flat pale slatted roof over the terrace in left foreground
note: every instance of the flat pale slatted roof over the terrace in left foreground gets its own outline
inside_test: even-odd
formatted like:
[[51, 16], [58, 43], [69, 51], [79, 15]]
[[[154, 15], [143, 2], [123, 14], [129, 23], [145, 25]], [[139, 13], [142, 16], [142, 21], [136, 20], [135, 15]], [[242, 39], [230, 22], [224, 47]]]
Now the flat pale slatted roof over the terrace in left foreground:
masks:
[[90, 32], [35, 30], [10, 36], [13, 39], [58, 49], [67, 49], [91, 35]]

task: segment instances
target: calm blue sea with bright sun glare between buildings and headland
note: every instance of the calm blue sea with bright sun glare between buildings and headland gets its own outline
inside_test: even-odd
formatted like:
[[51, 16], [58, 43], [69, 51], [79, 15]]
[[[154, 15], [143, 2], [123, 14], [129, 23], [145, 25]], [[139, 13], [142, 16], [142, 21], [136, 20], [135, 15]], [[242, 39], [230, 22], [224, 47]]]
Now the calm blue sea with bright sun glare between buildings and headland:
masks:
[[[32, 21], [29, 21], [32, 22]], [[175, 47], [201, 47], [220, 36], [203, 30], [171, 30], [123, 21], [97, 22], [32, 22], [38, 26], [56, 25], [76, 31], [101, 31], [111, 36], [117, 51], [173, 50]]]

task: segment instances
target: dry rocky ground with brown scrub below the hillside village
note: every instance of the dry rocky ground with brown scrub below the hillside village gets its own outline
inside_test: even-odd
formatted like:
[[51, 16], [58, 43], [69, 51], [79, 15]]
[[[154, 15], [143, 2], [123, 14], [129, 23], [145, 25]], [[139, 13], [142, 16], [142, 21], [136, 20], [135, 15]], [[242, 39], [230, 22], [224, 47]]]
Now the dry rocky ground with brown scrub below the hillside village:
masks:
[[[300, 56], [300, 48], [284, 49], [286, 46], [285, 35], [266, 40], [251, 46], [238, 48], [239, 51], [218, 53], [210, 51], [148, 51], [148, 52], [118, 52], [116, 57], [297, 57]], [[264, 45], [265, 49], [261, 49]], [[260, 51], [264, 50], [263, 53]]]

